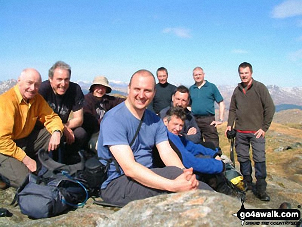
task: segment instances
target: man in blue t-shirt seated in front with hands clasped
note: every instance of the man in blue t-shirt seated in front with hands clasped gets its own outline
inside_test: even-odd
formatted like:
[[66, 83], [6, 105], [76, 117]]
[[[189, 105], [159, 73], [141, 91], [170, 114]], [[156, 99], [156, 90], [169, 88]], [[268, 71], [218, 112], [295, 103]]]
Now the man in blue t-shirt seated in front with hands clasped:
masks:
[[[110, 163], [108, 179], [101, 185], [104, 202], [123, 206], [163, 193], [197, 188], [211, 190], [196, 180], [192, 168], [183, 166], [169, 145], [162, 120], [146, 110], [154, 94], [153, 74], [147, 70], [137, 71], [130, 79], [126, 101], [108, 111], [101, 122], [98, 156], [114, 157], [118, 163], [118, 167]], [[140, 121], [142, 124], [135, 136]], [[154, 145], [167, 167], [152, 169]]]

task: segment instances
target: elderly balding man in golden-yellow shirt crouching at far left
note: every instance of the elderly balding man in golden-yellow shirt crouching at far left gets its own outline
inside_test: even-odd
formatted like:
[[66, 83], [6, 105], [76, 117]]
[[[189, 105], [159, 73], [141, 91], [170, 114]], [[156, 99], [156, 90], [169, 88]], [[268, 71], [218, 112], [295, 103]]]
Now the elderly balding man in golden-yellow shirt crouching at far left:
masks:
[[[13, 187], [37, 170], [40, 148], [52, 151], [60, 145], [64, 126], [38, 93], [41, 82], [37, 70], [26, 68], [17, 84], [0, 95], [0, 174]], [[37, 120], [45, 127], [38, 128]]]

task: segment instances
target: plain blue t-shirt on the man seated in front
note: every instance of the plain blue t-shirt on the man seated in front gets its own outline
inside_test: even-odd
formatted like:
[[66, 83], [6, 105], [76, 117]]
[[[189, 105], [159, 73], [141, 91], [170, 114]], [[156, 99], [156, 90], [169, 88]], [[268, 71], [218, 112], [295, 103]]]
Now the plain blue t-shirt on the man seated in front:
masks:
[[[134, 138], [139, 121], [126, 107], [125, 102], [108, 111], [100, 125], [98, 156], [109, 159], [112, 157], [112, 153], [108, 146], [129, 145]], [[166, 127], [161, 118], [146, 110], [143, 124], [131, 146], [135, 161], [147, 168], [152, 168], [154, 145], [167, 140]], [[101, 162], [106, 164], [105, 161]], [[120, 170], [119, 174], [112, 162], [108, 170], [108, 179], [102, 184], [101, 189], [106, 188], [113, 179], [121, 176], [123, 171], [121, 168]]]

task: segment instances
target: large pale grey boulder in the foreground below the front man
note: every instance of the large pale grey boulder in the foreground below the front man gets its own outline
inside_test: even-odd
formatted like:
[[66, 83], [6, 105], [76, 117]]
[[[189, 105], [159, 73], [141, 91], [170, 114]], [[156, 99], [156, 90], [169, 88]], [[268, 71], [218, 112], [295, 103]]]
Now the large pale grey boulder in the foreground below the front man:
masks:
[[97, 226], [241, 226], [233, 216], [240, 207], [235, 198], [196, 190], [131, 202], [108, 219], [100, 218]]

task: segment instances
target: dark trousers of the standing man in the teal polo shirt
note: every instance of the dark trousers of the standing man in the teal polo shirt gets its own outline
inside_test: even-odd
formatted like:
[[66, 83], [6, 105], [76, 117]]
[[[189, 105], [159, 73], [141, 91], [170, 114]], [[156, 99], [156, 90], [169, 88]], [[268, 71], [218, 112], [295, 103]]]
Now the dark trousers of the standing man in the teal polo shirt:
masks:
[[194, 116], [196, 123], [201, 132], [203, 141], [214, 143], [215, 147], [219, 147], [219, 136], [215, 125], [210, 125], [215, 116]]

